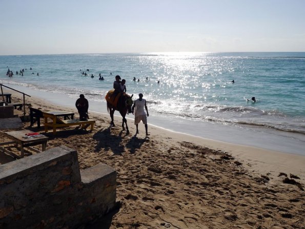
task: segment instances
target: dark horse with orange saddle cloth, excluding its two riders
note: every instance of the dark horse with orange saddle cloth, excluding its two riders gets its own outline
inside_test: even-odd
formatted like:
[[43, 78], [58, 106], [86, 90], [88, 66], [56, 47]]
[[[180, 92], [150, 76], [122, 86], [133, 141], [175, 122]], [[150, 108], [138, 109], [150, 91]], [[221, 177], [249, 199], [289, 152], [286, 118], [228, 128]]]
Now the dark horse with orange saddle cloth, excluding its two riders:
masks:
[[131, 106], [132, 106], [132, 96], [128, 96], [128, 94], [122, 94], [120, 98], [117, 101], [117, 106], [113, 107], [108, 101], [107, 101], [107, 111], [110, 110], [110, 117], [111, 117], [111, 126], [115, 126], [113, 122], [113, 113], [115, 110], [119, 111], [121, 116], [123, 117], [122, 127], [123, 130], [125, 130], [124, 123], [126, 124], [126, 133], [129, 134], [128, 126], [127, 126], [127, 120], [125, 119], [126, 113], [131, 113]]

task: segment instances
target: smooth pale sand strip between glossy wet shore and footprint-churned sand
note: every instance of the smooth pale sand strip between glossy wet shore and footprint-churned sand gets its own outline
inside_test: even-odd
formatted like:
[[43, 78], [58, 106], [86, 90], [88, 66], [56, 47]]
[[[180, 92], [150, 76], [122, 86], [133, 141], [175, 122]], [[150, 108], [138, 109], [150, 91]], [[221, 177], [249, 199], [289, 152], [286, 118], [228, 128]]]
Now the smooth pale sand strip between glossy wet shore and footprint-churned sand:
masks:
[[[13, 97], [22, 100], [22, 97], [19, 96], [16, 92], [12, 90], [5, 90], [5, 91], [10, 91]], [[37, 107], [37, 104], [40, 104], [42, 107], [47, 107], [50, 110], [52, 109], [54, 110], [54, 107], [56, 107], [56, 109], [59, 110], [73, 111], [75, 113], [75, 116], [78, 117], [78, 113], [75, 107], [72, 106], [64, 107], [61, 105], [59, 106], [56, 103], [50, 102], [48, 99], [38, 98], [36, 96], [32, 96], [31, 98], [29, 98], [29, 100], [32, 101], [32, 106], [35, 108], [39, 107], [39, 106]], [[110, 116], [107, 113], [90, 111], [89, 115], [90, 117], [94, 116], [94, 117], [100, 117], [101, 119], [104, 120], [108, 120], [108, 123], [110, 125]], [[129, 129], [131, 130], [130, 136], [133, 136], [135, 133], [135, 126], [133, 123], [133, 119], [128, 117], [127, 119], [128, 119]], [[120, 128], [121, 117], [114, 115], [114, 120], [115, 120], [116, 128], [118, 127]], [[139, 124], [139, 131], [142, 133], [145, 132], [145, 128], [142, 123]], [[292, 154], [289, 152], [281, 152], [276, 150], [269, 150], [269, 149], [259, 148], [249, 145], [235, 144], [235, 143], [219, 141], [214, 139], [207, 139], [200, 136], [194, 136], [189, 133], [183, 133], [183, 132], [163, 128], [154, 124], [150, 124], [149, 122], [148, 122], [148, 132], [152, 133], [153, 135], [157, 135], [159, 137], [163, 136], [164, 138], [168, 138], [168, 136], [170, 136], [175, 141], [189, 141], [214, 150], [222, 150], [229, 152], [234, 157], [237, 157], [238, 159], [243, 161], [246, 165], [251, 164], [251, 166], [249, 166], [248, 168], [250, 169], [252, 168], [253, 171], [257, 171], [259, 173], [270, 173], [272, 171], [273, 174], [276, 174], [276, 173], [281, 173], [281, 171], [284, 169], [289, 169], [289, 173], [299, 174], [305, 177], [305, 169], [303, 168], [303, 165], [305, 165], [305, 156], [303, 155]], [[274, 178], [276, 177], [274, 176]]]

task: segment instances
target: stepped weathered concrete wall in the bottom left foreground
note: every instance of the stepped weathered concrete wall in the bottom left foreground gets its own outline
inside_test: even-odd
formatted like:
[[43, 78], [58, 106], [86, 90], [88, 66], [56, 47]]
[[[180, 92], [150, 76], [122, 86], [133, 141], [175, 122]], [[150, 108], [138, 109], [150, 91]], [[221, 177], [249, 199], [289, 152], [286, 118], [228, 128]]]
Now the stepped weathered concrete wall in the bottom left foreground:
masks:
[[0, 228], [74, 228], [115, 205], [116, 172], [65, 146], [0, 165]]

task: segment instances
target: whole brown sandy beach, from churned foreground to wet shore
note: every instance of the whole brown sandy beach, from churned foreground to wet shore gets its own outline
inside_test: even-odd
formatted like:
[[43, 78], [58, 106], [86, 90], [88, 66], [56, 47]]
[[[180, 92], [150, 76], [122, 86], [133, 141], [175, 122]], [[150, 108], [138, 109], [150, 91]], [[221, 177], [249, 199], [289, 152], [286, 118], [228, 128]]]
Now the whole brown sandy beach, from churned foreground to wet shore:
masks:
[[[11, 93], [14, 103], [22, 101]], [[73, 111], [78, 118], [76, 109], [39, 98], [26, 98], [26, 103], [43, 111]], [[117, 209], [103, 224], [98, 221], [88, 228], [304, 228], [305, 157], [150, 124], [150, 136], [145, 136], [142, 123], [135, 135], [130, 120], [126, 135], [121, 117], [116, 116], [116, 126], [110, 128], [109, 114], [89, 116], [96, 120], [92, 132], [69, 127], [55, 137], [36, 124], [24, 124], [49, 137], [47, 149], [76, 149], [81, 169], [105, 163], [117, 171]], [[0, 160], [13, 159], [1, 155]]]

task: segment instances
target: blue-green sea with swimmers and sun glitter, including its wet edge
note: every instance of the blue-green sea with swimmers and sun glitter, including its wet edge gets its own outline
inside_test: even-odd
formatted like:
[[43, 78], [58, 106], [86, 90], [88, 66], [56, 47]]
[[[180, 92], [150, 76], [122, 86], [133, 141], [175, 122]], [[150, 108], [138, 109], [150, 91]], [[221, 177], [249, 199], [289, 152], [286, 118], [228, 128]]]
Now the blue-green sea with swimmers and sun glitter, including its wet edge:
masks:
[[[107, 112], [105, 95], [118, 74], [126, 80], [127, 93], [134, 94], [134, 99], [138, 93], [144, 94], [153, 117], [149, 121], [154, 125], [221, 141], [289, 150], [257, 143], [261, 140], [255, 136], [268, 134], [269, 140], [295, 141], [296, 153], [305, 151], [305, 52], [7, 55], [0, 56], [0, 63], [4, 85], [35, 91], [41, 97], [46, 93], [53, 93], [54, 98], [64, 95], [71, 101], [83, 93], [98, 112]], [[13, 77], [6, 75], [8, 68]], [[16, 74], [22, 69], [23, 76]], [[99, 74], [104, 81], [98, 79]], [[213, 129], [228, 132], [228, 136], [218, 138]], [[247, 130], [247, 137], [239, 136], [237, 130]]]

